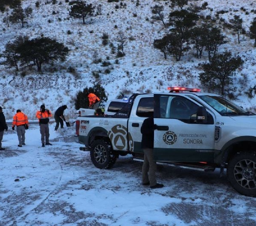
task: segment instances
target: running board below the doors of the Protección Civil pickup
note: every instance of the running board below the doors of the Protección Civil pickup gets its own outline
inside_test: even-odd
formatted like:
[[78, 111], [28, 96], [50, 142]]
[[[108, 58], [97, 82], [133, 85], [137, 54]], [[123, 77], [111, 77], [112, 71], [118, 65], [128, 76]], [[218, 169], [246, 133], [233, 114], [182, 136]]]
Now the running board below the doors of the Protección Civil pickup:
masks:
[[[143, 162], [143, 159], [134, 157], [134, 161]], [[204, 171], [204, 172], [213, 172], [215, 170], [215, 167], [209, 166], [209, 165], [192, 165], [192, 164], [184, 164], [180, 162], [157, 162], [158, 165], [169, 165], [169, 166], [175, 166], [179, 168], [184, 169], [192, 169], [197, 171]]]

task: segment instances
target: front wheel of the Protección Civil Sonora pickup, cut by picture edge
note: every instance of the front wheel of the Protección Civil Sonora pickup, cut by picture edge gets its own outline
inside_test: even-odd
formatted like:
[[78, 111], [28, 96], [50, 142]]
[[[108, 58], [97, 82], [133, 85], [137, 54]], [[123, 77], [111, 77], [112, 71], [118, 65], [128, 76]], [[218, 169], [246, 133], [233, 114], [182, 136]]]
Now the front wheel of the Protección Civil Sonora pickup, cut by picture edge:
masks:
[[256, 197], [256, 156], [253, 153], [235, 155], [228, 164], [227, 176], [240, 194]]

